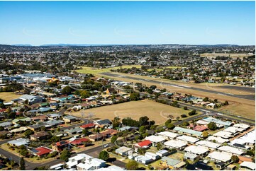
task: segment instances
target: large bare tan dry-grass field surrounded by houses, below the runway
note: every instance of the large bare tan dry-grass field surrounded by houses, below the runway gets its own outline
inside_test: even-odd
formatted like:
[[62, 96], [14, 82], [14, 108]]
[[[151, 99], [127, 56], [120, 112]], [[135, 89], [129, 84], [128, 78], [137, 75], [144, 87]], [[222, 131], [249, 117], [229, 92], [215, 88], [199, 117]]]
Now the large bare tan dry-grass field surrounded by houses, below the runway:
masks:
[[[147, 116], [150, 120], [154, 120], [155, 124], [164, 124], [167, 121], [169, 114], [173, 115], [174, 119], [176, 119], [176, 117], [180, 117], [181, 114], [187, 114], [189, 110], [183, 110], [182, 108], [164, 105], [151, 100], [141, 100], [96, 107], [84, 110], [84, 112], [86, 113], [84, 116], [88, 113], [95, 114], [92, 119], [113, 119], [114, 117], [121, 117], [121, 119], [125, 117], [139, 119], [140, 117]], [[70, 114], [82, 117], [81, 112], [71, 112]]]

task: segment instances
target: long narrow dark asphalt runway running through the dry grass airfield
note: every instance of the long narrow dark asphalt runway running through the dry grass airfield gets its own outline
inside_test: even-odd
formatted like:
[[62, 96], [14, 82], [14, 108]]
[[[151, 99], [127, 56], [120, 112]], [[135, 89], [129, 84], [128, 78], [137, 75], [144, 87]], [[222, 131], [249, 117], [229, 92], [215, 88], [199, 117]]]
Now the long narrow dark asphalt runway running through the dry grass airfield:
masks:
[[[149, 83], [159, 83], [159, 84], [162, 84], [162, 86], [176, 86], [177, 87], [177, 84], [173, 84], [173, 83], [163, 83], [162, 81], [148, 80], [148, 79], [145, 79], [145, 78], [136, 78], [136, 77], [133, 77], [133, 76], [120, 76], [116, 73], [101, 73], [101, 74], [103, 74], [105, 76], [112, 76], [112, 77], [117, 77], [117, 78], [129, 78], [129, 79], [138, 80], [138, 81], [145, 81], [145, 82], [149, 82]], [[203, 89], [203, 88], [193, 88], [193, 87], [182, 86], [182, 85], [179, 85], [179, 87], [180, 88], [187, 88], [187, 89], [191, 89], [191, 90], [199, 90], [199, 91], [207, 92], [207, 93], [215, 93], [215, 94], [218, 94], [218, 95], [227, 95], [227, 96], [234, 97], [234, 98], [243, 98], [243, 99], [247, 99], [247, 100], [255, 100], [255, 95], [234, 95], [234, 94], [230, 94], [230, 93], [219, 92], [219, 91], [216, 91], [216, 90], [206, 90], [206, 89]]]

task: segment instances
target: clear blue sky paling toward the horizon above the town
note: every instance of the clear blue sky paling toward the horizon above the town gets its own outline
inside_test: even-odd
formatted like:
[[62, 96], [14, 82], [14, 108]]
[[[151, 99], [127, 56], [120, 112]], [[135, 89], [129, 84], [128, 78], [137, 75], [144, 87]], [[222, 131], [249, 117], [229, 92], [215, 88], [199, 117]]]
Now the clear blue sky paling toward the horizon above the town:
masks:
[[0, 44], [255, 45], [255, 1], [0, 1]]

